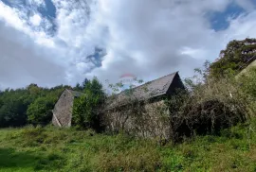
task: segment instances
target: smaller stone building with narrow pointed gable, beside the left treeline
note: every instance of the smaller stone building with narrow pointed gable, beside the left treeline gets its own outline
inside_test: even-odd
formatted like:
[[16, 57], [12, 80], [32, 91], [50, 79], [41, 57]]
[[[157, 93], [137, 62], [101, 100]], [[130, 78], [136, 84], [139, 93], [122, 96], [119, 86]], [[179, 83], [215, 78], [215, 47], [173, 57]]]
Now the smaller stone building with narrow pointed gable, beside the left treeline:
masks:
[[82, 93], [65, 89], [52, 110], [52, 124], [58, 127], [71, 127], [72, 107], [76, 97]]

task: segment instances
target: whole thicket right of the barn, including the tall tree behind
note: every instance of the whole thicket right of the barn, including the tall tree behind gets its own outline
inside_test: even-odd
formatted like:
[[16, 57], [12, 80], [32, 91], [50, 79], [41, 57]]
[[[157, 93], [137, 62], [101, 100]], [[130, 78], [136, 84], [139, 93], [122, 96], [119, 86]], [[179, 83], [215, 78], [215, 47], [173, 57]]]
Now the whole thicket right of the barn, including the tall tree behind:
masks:
[[173, 140], [201, 134], [219, 134], [238, 123], [249, 122], [256, 112], [256, 69], [238, 75], [256, 59], [256, 40], [232, 41], [212, 63], [195, 69], [184, 83], [189, 94], [167, 100]]

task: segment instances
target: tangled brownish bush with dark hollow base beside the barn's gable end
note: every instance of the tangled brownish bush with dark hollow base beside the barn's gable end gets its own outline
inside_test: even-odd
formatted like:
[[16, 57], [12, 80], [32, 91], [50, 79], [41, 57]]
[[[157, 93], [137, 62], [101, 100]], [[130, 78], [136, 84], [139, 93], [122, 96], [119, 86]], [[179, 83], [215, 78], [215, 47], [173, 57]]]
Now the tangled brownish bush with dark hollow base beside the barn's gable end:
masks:
[[194, 87], [192, 95], [178, 94], [168, 103], [175, 142], [194, 133], [218, 134], [250, 117], [249, 99], [232, 78], [208, 80]]

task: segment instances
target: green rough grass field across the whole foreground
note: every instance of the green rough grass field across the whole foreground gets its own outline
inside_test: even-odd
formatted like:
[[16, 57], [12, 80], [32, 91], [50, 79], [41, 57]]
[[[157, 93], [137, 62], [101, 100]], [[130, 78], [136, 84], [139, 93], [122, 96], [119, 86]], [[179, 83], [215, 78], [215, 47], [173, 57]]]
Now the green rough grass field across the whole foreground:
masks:
[[0, 171], [256, 171], [253, 126], [176, 146], [93, 131], [0, 129]]

